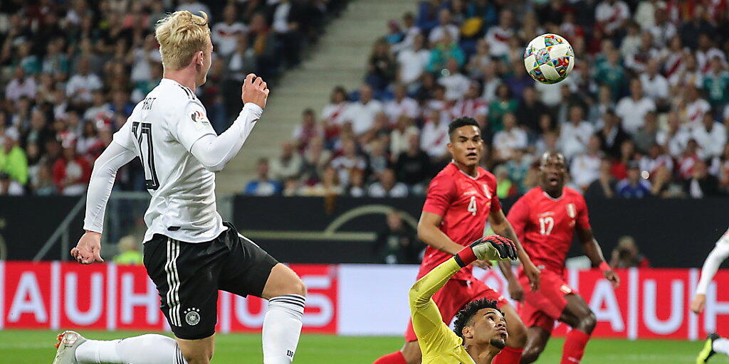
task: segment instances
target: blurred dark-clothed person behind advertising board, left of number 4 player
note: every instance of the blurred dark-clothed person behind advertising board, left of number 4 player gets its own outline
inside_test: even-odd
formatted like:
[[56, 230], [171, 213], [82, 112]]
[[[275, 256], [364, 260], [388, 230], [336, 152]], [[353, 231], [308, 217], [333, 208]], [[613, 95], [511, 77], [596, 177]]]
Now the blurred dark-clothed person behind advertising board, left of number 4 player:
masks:
[[387, 226], [377, 234], [373, 246], [375, 261], [385, 264], [417, 264], [423, 245], [416, 239], [416, 232], [403, 223], [402, 213], [391, 210], [387, 214]]

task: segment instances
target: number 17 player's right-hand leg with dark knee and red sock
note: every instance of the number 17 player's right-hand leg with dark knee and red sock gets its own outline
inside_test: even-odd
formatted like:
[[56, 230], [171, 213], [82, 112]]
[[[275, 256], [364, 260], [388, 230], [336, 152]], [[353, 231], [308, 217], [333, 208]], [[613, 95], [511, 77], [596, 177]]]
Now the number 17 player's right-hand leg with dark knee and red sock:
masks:
[[580, 295], [570, 293], [564, 298], [567, 304], [559, 320], [570, 325], [572, 330], [564, 341], [561, 364], [580, 363], [597, 321], [590, 306], [585, 304]]

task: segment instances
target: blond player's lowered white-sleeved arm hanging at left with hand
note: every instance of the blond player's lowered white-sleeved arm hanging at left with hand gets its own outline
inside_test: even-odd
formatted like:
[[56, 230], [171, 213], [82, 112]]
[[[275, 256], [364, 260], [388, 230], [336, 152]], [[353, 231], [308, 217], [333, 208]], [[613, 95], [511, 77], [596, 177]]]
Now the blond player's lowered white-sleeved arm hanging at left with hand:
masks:
[[82, 235], [76, 248], [71, 249], [71, 256], [81, 264], [104, 261], [101, 258], [101, 233], [104, 231], [106, 202], [109, 201], [109, 196], [112, 194], [117, 170], [136, 156], [130, 148], [122, 146], [122, 143], [128, 143], [128, 138], [124, 133], [128, 132], [128, 135], [131, 135], [128, 124], [124, 124], [121, 130], [114, 134], [114, 141], [106, 147], [93, 164], [93, 172], [86, 192], [84, 218], [86, 232]]

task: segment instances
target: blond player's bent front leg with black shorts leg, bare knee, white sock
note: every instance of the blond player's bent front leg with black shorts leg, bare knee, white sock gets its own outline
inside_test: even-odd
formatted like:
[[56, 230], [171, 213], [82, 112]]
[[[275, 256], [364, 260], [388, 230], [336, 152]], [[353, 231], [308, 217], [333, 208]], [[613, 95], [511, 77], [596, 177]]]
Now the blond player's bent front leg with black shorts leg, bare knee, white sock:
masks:
[[225, 225], [230, 255], [220, 273], [219, 287], [268, 299], [262, 329], [263, 363], [291, 363], [301, 334], [306, 287], [289, 267], [238, 234], [230, 223]]

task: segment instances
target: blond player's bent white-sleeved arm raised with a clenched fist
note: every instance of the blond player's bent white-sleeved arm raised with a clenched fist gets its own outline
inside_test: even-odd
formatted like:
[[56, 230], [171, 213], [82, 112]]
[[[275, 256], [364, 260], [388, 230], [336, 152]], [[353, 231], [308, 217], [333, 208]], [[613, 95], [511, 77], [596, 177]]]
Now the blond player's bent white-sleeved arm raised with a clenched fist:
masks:
[[260, 119], [268, 100], [268, 92], [263, 79], [254, 74], [246, 76], [241, 87], [243, 110], [220, 135], [215, 135], [202, 105], [196, 100], [191, 101], [184, 119], [177, 124], [177, 139], [207, 170], [222, 170], [241, 150], [255, 123]]

